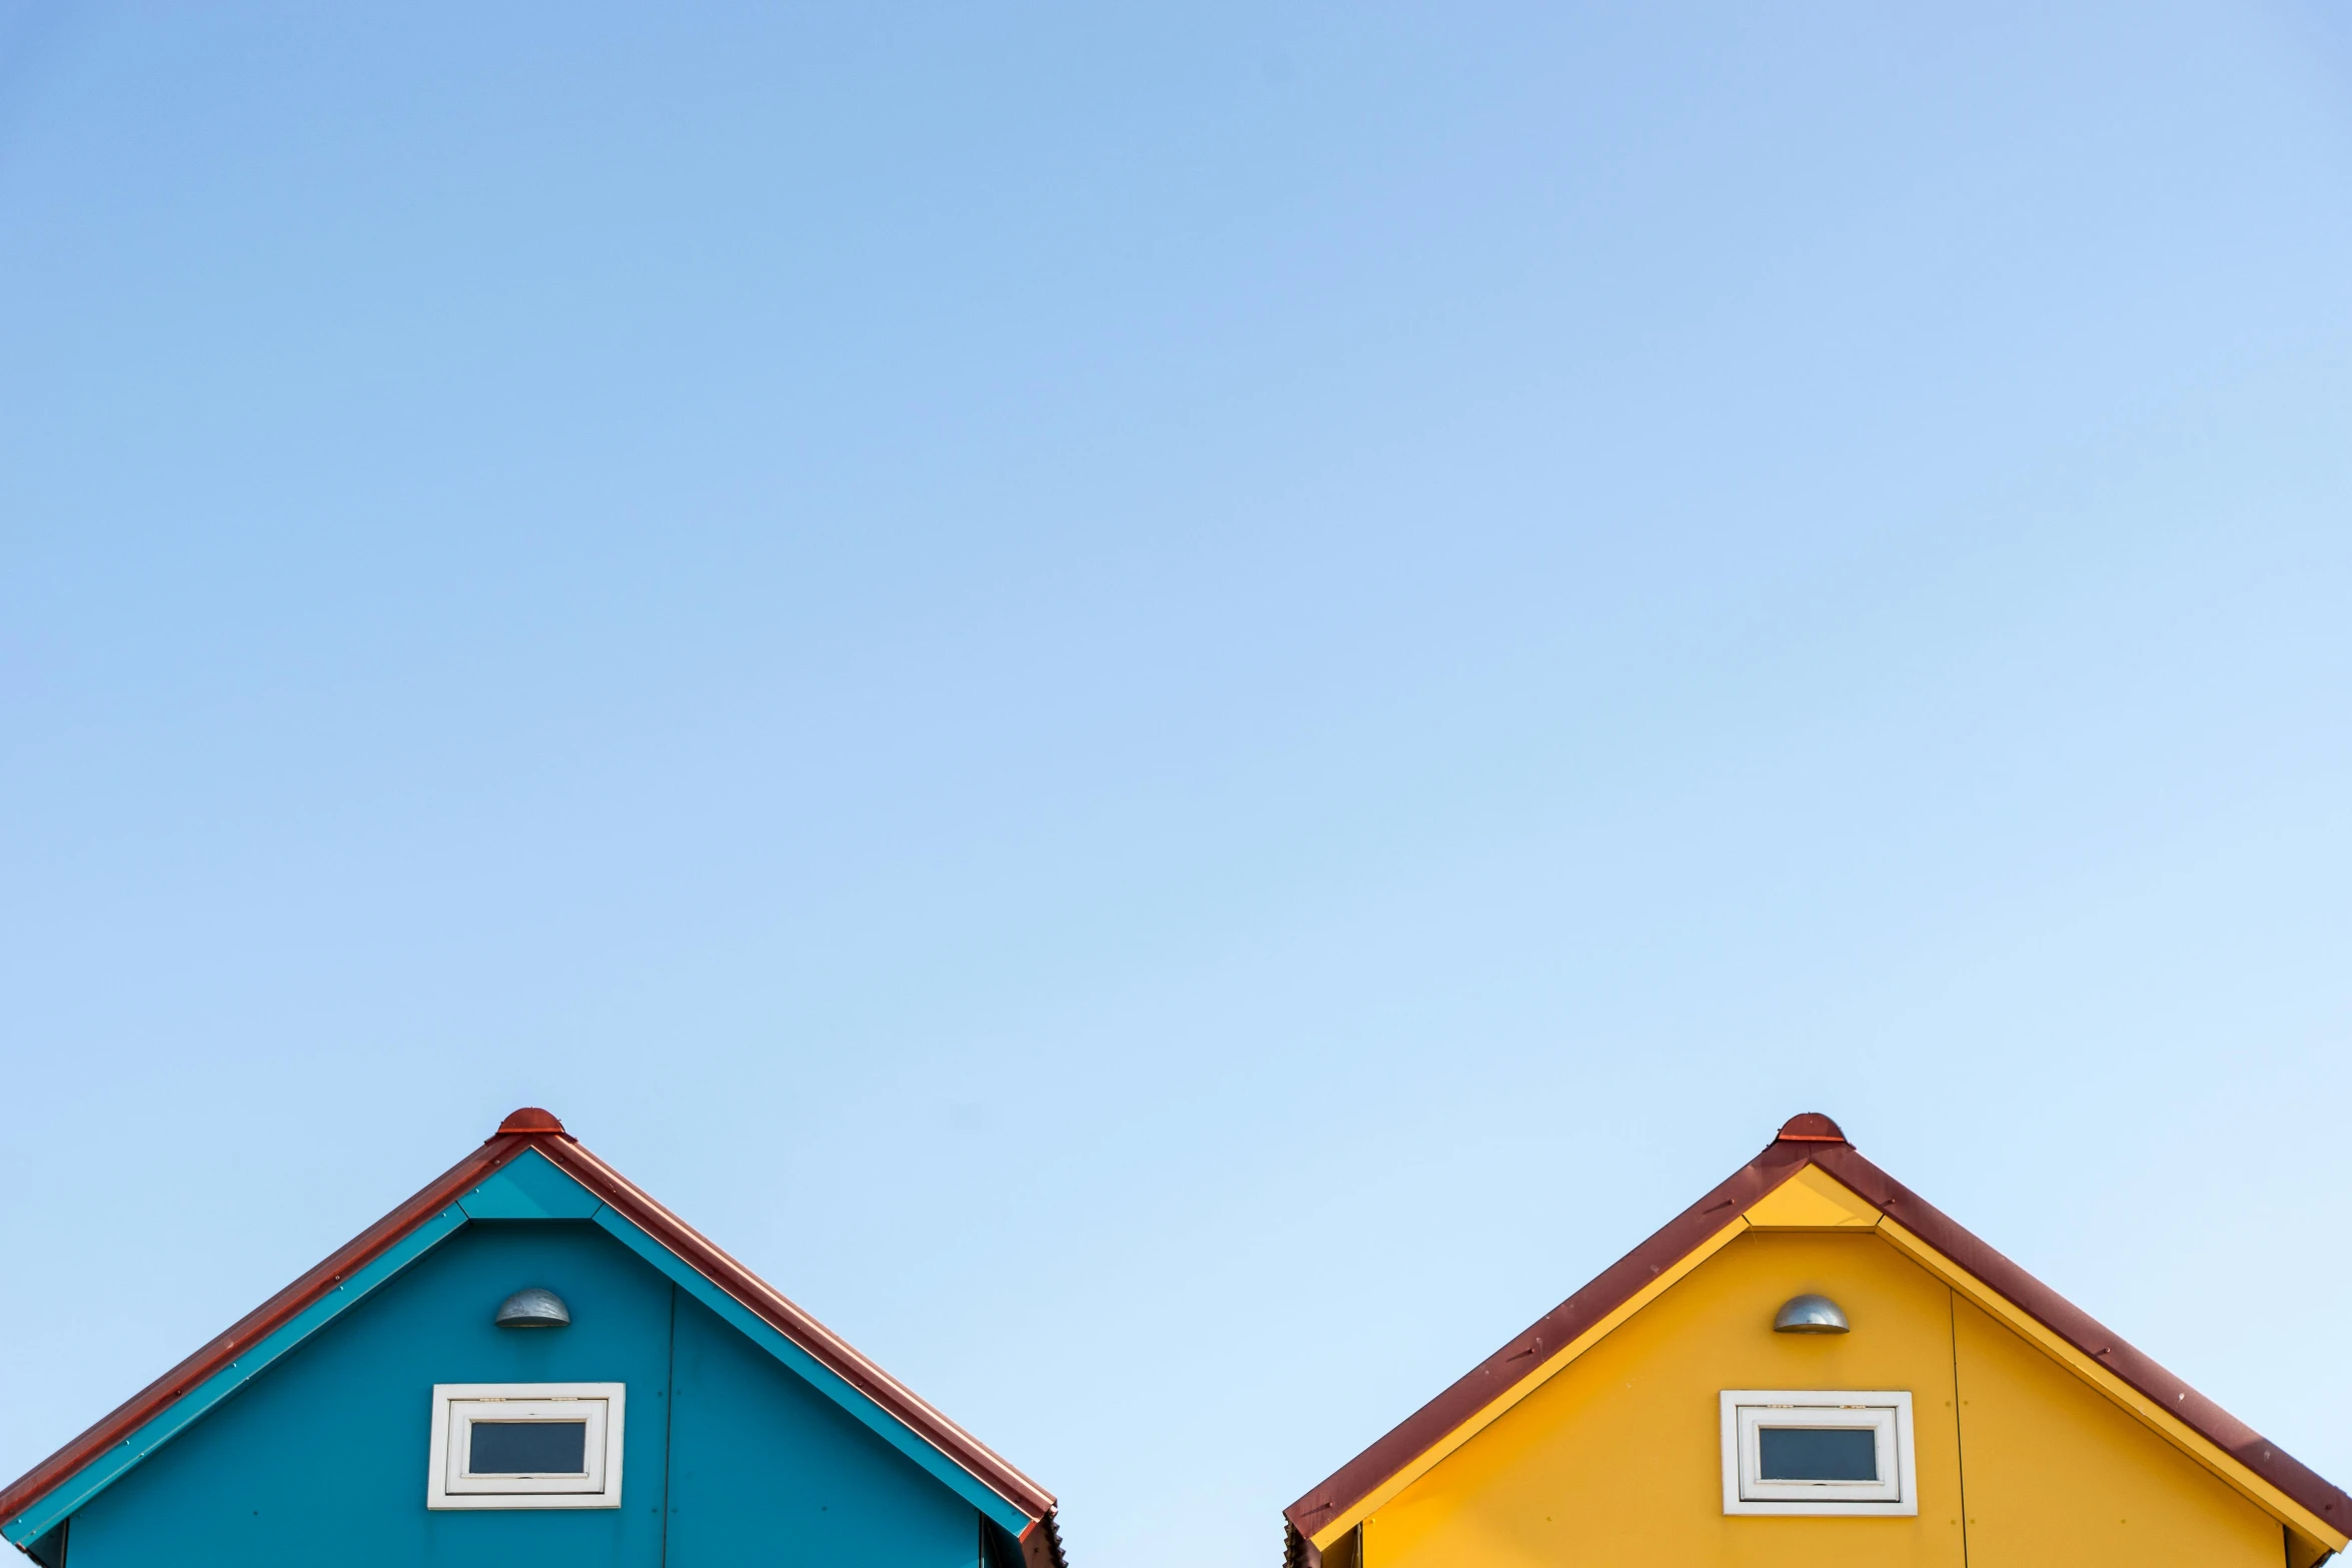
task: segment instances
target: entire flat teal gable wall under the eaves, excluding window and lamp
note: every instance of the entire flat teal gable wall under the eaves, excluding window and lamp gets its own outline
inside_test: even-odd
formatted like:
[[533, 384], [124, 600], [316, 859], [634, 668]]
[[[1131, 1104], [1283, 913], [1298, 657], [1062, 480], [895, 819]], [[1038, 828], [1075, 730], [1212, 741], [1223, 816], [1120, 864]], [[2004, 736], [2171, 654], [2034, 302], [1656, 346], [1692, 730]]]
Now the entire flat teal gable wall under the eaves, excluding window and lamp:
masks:
[[[569, 1328], [494, 1328], [522, 1286]], [[619, 1509], [426, 1509], [435, 1382], [626, 1382]], [[673, 1410], [675, 1406], [675, 1410]], [[581, 1220], [475, 1220], [73, 1519], [68, 1568], [971, 1568], [981, 1519]]]

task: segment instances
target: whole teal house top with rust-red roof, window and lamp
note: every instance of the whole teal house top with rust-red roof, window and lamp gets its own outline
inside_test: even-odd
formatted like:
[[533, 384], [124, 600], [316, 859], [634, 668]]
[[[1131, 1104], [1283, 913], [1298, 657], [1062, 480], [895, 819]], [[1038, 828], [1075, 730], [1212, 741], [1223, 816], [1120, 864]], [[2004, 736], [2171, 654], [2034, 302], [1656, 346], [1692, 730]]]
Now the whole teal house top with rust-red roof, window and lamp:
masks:
[[45, 1568], [1065, 1568], [1054, 1497], [543, 1110], [0, 1493]]

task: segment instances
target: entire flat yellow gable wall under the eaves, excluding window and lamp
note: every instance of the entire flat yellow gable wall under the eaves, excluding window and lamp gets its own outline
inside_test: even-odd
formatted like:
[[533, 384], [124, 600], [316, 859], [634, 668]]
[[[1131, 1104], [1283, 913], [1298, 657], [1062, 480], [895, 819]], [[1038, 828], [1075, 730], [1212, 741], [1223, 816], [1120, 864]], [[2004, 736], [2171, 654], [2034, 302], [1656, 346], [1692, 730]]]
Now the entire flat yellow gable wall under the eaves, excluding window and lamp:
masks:
[[[1771, 1333], [1802, 1291], [1853, 1333]], [[1919, 1514], [1726, 1516], [1722, 1389], [1910, 1389]], [[1378, 1507], [1362, 1568], [2281, 1561], [2277, 1521], [1879, 1237], [1748, 1232]]]

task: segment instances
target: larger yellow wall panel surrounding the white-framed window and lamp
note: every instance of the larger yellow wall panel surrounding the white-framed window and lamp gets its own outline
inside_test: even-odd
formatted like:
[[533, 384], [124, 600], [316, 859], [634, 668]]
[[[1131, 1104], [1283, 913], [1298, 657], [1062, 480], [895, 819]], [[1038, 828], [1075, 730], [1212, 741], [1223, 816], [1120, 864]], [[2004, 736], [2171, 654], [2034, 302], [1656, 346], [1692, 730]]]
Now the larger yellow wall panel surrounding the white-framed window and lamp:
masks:
[[[1849, 1335], [1771, 1333], [1820, 1291]], [[1910, 1389], [1917, 1519], [1722, 1512], [1722, 1389]], [[1745, 1232], [1364, 1526], [1364, 1568], [1987, 1568], [1962, 1556], [1952, 1293], [1872, 1232]]]

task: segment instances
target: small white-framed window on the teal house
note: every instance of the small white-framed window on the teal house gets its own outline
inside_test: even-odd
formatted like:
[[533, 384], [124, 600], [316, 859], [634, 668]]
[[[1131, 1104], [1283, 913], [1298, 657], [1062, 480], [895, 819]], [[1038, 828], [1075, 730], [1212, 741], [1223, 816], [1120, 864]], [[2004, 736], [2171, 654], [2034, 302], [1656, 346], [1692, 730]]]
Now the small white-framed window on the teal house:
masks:
[[621, 1507], [621, 1382], [435, 1382], [428, 1509]]

